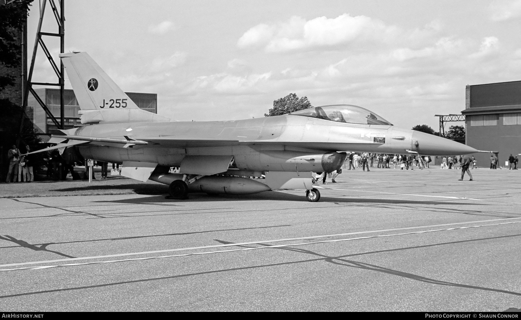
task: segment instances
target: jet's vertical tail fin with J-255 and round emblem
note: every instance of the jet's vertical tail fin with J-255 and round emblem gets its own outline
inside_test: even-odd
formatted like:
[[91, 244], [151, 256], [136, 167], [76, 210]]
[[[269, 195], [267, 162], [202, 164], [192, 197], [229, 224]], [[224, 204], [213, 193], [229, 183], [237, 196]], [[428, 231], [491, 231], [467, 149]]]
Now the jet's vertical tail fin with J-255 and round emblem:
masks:
[[139, 109], [86, 52], [59, 56], [81, 110]]

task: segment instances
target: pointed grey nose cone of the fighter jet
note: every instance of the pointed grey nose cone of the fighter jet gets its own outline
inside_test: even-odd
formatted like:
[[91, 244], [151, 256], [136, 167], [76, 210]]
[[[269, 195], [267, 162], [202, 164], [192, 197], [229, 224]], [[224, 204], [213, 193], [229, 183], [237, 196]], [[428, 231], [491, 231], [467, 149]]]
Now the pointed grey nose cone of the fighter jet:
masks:
[[463, 143], [429, 135], [420, 131], [413, 131], [413, 144], [418, 141], [417, 152], [428, 155], [468, 154], [479, 152]]

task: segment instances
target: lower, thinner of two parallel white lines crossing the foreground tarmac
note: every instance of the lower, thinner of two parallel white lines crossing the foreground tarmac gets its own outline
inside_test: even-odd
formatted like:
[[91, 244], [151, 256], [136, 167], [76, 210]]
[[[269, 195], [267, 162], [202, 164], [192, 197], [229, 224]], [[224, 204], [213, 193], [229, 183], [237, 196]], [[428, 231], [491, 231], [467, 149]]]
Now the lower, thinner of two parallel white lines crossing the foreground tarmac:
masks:
[[[246, 250], [256, 250], [256, 249], [295, 247], [295, 246], [304, 246], [304, 245], [319, 244], [319, 243], [342, 242], [342, 241], [351, 241], [351, 240], [359, 240], [359, 239], [370, 239], [370, 238], [379, 238], [379, 237], [392, 237], [392, 236], [398, 236], [398, 235], [408, 235], [408, 234], [419, 234], [419, 233], [429, 233], [429, 232], [438, 232], [438, 231], [449, 231], [449, 230], [461, 230], [461, 229], [470, 229], [470, 228], [480, 228], [480, 227], [483, 227], [483, 226], [512, 224], [512, 223], [520, 223], [520, 222], [521, 221], [512, 221], [512, 222], [485, 224], [485, 225], [471, 225], [471, 226], [462, 226], [460, 228], [446, 228], [446, 229], [438, 229], [438, 230], [426, 230], [426, 231], [416, 231], [416, 232], [397, 233], [397, 234], [396, 233], [395, 234], [382, 234], [382, 235], [375, 235], [375, 236], [368, 236], [368, 237], [357, 237], [357, 238], [348, 238], [348, 239], [325, 240], [325, 241], [305, 242], [305, 243], [296, 243], [296, 244], [288, 244], [288, 245], [275, 245], [275, 246], [253, 247], [253, 248], [243, 248], [243, 249], [230, 249], [230, 250], [219, 250], [219, 251], [207, 251], [207, 252], [190, 252], [188, 254], [183, 254], [183, 255], [146, 257], [146, 258], [109, 260], [109, 261], [94, 261], [94, 262], [70, 263], [70, 264], [61, 264], [61, 265], [29, 266], [29, 267], [24, 267], [24, 268], [0, 269], [0, 271], [15, 271], [15, 270], [27, 270], [27, 269], [36, 270], [36, 269], [58, 268], [60, 266], [75, 266], [75, 265], [100, 264], [100, 263], [111, 263], [111, 262], [125, 262], [125, 261], [136, 261], [136, 260], [152, 260], [152, 259], [161, 259], [161, 258], [173, 258], [173, 257], [187, 257], [187, 256], [196, 256], [196, 255], [219, 254], [219, 253], [233, 252], [233, 251], [246, 251]], [[240, 244], [230, 244], [230, 245], [238, 246]]]

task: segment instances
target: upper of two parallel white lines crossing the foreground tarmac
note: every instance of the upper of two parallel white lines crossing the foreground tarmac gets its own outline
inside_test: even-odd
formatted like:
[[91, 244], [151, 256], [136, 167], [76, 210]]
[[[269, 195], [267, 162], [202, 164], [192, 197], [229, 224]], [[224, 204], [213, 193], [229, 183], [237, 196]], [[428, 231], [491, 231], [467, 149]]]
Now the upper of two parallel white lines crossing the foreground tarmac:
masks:
[[201, 246], [201, 247], [177, 248], [177, 249], [167, 249], [167, 250], [132, 252], [132, 253], [128, 253], [128, 254], [117, 254], [117, 255], [106, 255], [106, 256], [94, 256], [94, 257], [68, 258], [68, 259], [57, 259], [57, 260], [46, 260], [46, 261], [8, 263], [8, 264], [0, 264], [0, 267], [15, 266], [15, 265], [28, 265], [28, 264], [42, 264], [42, 263], [52, 263], [52, 262], [63, 262], [63, 261], [77, 261], [77, 260], [113, 258], [113, 257], [125, 257], [125, 256], [149, 255], [149, 254], [158, 254], [158, 253], [161, 253], [161, 252], [173, 252], [173, 251], [185, 251], [185, 250], [197, 250], [197, 249], [232, 247], [232, 246], [251, 245], [251, 244], [258, 244], [258, 243], [272, 243], [272, 242], [294, 241], [294, 240], [303, 240], [303, 239], [312, 239], [312, 238], [325, 238], [325, 237], [345, 236], [345, 235], [353, 235], [353, 234], [389, 232], [389, 231], [399, 231], [399, 230], [412, 230], [412, 229], [421, 229], [421, 228], [436, 228], [438, 226], [460, 225], [460, 224], [468, 224], [468, 223], [482, 223], [482, 222], [492, 222], [492, 221], [507, 221], [507, 220], [513, 220], [513, 219], [521, 219], [521, 217], [490, 219], [490, 220], [479, 220], [479, 221], [467, 221], [467, 222], [454, 222], [454, 223], [443, 223], [443, 224], [432, 224], [432, 225], [421, 225], [421, 226], [408, 226], [406, 228], [382, 229], [382, 230], [371, 230], [371, 231], [358, 231], [358, 232], [337, 233], [337, 234], [327, 234], [327, 235], [316, 235], [316, 236], [298, 237], [298, 238], [285, 238], [285, 239], [252, 241], [252, 242], [233, 243], [233, 244], [214, 245], [214, 246]]

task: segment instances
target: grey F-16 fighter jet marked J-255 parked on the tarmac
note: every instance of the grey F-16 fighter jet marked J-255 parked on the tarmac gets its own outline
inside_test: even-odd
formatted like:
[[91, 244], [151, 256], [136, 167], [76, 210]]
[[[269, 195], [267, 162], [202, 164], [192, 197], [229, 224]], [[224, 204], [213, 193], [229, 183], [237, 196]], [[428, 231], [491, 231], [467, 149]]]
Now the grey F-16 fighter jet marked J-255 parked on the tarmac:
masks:
[[[86, 52], [60, 54], [85, 126], [62, 130], [41, 150], [67, 148], [78, 158], [122, 163], [121, 175], [189, 192], [252, 194], [274, 189], [320, 193], [312, 172], [341, 168], [346, 152], [468, 154], [470, 146], [393, 126], [355, 105], [326, 105], [235, 121], [177, 122], [138, 108]], [[61, 149], [64, 150], [64, 149]], [[177, 172], [172, 173], [171, 168]], [[265, 179], [250, 179], [261, 177]]]

